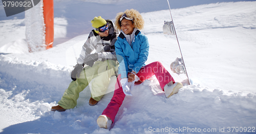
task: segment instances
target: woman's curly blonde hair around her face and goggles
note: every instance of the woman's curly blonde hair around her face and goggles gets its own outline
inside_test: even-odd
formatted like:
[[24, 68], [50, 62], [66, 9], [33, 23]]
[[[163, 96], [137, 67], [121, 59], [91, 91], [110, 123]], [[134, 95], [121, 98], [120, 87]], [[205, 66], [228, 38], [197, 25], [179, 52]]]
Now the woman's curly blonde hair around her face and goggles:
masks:
[[120, 18], [123, 14], [126, 14], [127, 17], [133, 19], [133, 23], [135, 28], [142, 30], [144, 28], [144, 19], [140, 15], [140, 13], [137, 10], [130, 9], [130, 10], [125, 10], [124, 12], [120, 12], [116, 15], [116, 21], [115, 21], [115, 26], [117, 30], [121, 30], [121, 22]]

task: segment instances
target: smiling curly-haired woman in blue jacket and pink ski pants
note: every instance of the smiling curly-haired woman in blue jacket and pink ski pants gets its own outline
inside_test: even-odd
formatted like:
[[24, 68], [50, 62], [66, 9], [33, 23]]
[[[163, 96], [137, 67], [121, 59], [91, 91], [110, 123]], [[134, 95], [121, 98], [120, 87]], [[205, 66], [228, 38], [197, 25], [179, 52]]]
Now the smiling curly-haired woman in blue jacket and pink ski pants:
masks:
[[178, 93], [182, 87], [181, 83], [175, 83], [174, 78], [160, 62], [145, 64], [150, 45], [147, 37], [139, 31], [144, 27], [144, 20], [138, 11], [131, 9], [118, 13], [115, 26], [117, 30], [120, 30], [115, 43], [119, 74], [114, 95], [102, 115], [97, 119], [99, 127], [106, 129], [110, 129], [111, 124], [115, 121], [125, 95], [132, 96], [131, 90], [135, 82], [139, 84], [156, 75], [166, 97]]

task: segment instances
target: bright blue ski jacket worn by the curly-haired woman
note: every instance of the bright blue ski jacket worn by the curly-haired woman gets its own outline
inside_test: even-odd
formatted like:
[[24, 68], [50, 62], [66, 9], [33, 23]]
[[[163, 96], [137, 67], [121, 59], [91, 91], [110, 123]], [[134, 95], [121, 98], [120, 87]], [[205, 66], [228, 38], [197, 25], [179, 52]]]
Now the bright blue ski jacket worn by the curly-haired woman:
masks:
[[119, 62], [118, 73], [121, 74], [121, 78], [127, 77], [128, 72], [133, 70], [138, 73], [141, 67], [145, 66], [149, 48], [147, 37], [139, 30], [135, 32], [134, 41], [131, 45], [129, 45], [123, 33], [119, 34], [115, 49]]

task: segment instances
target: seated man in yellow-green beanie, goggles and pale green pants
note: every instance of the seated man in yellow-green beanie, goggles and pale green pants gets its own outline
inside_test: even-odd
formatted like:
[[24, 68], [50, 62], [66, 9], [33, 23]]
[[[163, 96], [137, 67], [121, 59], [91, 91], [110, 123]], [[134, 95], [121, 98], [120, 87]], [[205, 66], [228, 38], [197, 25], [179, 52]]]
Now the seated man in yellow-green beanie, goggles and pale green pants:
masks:
[[[89, 105], [96, 105], [105, 94], [110, 77], [117, 75], [118, 62], [115, 52], [117, 32], [111, 20], [100, 16], [91, 21], [95, 28], [82, 46], [80, 57], [71, 73], [72, 82], [64, 92], [57, 106], [52, 111], [73, 109], [77, 104], [79, 93], [92, 82]], [[88, 66], [86, 66], [88, 65]], [[85, 66], [85, 67], [84, 67]]]

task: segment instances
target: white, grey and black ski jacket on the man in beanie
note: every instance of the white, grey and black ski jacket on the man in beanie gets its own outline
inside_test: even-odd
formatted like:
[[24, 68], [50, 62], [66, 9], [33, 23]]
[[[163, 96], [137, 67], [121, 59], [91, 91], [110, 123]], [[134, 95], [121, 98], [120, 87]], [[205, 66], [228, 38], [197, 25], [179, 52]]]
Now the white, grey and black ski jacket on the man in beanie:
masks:
[[84, 59], [91, 53], [98, 53], [98, 60], [105, 61], [108, 59], [117, 60], [115, 51], [115, 42], [118, 33], [114, 29], [111, 20], [106, 20], [110, 24], [109, 36], [100, 37], [94, 30], [88, 36], [87, 41], [83, 44], [77, 64], [83, 64]]

